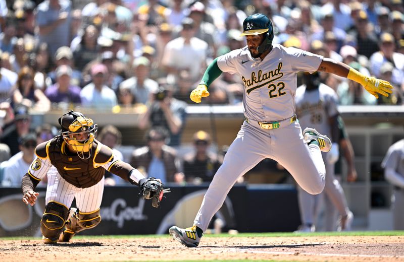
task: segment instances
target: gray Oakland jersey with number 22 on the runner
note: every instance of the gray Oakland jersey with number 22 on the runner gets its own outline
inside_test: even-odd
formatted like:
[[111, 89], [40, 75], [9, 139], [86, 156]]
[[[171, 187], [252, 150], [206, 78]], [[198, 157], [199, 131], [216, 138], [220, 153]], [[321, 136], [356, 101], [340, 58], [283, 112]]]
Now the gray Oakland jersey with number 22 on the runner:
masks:
[[251, 120], [277, 121], [293, 116], [296, 74], [315, 72], [323, 56], [272, 44], [264, 60], [252, 58], [247, 46], [218, 58], [219, 69], [238, 74], [244, 82], [244, 115]]

